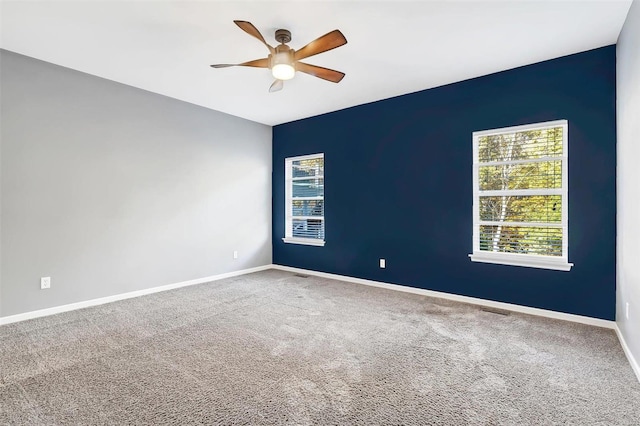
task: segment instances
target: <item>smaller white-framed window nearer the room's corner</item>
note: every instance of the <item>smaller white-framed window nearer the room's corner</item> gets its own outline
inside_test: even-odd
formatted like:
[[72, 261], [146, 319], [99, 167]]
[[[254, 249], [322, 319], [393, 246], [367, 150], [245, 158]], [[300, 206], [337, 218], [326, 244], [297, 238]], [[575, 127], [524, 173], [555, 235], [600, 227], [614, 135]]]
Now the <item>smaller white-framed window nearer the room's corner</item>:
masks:
[[286, 158], [285, 243], [324, 246], [324, 154]]

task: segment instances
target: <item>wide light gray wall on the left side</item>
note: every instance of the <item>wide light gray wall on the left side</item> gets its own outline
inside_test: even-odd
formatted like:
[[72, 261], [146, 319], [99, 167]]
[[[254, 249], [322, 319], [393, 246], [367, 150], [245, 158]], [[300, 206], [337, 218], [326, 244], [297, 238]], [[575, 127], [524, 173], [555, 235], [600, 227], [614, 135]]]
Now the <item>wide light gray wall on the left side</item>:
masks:
[[271, 263], [269, 126], [0, 63], [0, 317]]

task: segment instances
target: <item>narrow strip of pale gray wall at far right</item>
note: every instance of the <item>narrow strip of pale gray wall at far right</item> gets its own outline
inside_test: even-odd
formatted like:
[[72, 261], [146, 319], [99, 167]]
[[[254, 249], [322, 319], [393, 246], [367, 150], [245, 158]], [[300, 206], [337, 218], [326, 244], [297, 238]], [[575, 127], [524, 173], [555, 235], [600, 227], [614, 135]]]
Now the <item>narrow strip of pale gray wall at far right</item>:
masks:
[[[640, 0], [617, 45], [618, 271], [616, 321], [640, 363]], [[626, 305], [629, 304], [629, 318]], [[638, 372], [640, 374], [640, 372]], [[640, 378], [640, 376], [639, 376]]]

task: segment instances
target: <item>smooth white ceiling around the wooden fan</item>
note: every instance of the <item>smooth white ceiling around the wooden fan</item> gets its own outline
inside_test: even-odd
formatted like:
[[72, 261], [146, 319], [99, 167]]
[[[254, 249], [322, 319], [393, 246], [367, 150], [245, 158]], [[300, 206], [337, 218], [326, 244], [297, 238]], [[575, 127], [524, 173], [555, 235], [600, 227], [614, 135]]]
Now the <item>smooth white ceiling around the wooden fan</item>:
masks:
[[[2, 1], [4, 49], [269, 125], [436, 87], [616, 42], [631, 0]], [[348, 44], [268, 93], [270, 72], [212, 69], [267, 56], [233, 24], [298, 49], [333, 29]]]

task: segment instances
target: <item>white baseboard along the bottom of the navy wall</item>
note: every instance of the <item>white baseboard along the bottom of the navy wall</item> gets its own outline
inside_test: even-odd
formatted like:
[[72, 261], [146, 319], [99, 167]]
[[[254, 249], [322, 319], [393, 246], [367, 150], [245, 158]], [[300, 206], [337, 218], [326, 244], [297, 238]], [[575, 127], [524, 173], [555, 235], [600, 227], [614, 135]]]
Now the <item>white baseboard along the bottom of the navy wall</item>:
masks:
[[274, 269], [282, 271], [297, 272], [307, 275], [315, 275], [333, 280], [346, 281], [356, 284], [364, 284], [372, 287], [386, 288], [389, 290], [403, 291], [405, 293], [420, 294], [423, 296], [437, 297], [440, 299], [454, 300], [456, 302], [469, 303], [472, 305], [486, 306], [490, 308], [503, 309], [506, 311], [520, 312], [523, 314], [536, 315], [540, 317], [559, 319], [563, 321], [577, 322], [580, 324], [593, 325], [596, 327], [604, 327], [615, 329], [615, 321], [608, 321], [599, 318], [585, 317], [582, 315], [565, 314], [563, 312], [549, 311], [547, 309], [530, 308], [528, 306], [513, 305], [511, 303], [494, 302], [493, 300], [478, 299], [476, 297], [460, 296], [457, 294], [443, 293], [440, 291], [425, 290], [422, 288], [408, 287], [398, 284], [389, 284], [380, 281], [365, 280], [363, 278], [354, 278], [346, 275], [329, 274], [326, 272], [311, 271], [308, 269], [292, 268], [290, 266], [272, 265]]

